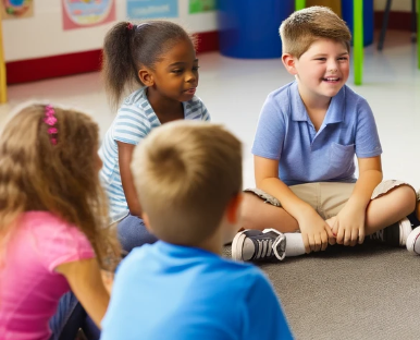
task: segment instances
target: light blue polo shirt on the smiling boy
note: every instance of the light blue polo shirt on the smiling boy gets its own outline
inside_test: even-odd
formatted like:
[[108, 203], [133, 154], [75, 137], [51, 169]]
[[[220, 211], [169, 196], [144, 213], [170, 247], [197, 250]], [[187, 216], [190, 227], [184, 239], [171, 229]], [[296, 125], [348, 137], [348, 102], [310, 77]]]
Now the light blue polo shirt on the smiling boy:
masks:
[[295, 185], [355, 182], [355, 155], [375, 157], [382, 147], [372, 110], [348, 86], [332, 98], [317, 132], [293, 82], [268, 96], [252, 154], [279, 160], [280, 179]]

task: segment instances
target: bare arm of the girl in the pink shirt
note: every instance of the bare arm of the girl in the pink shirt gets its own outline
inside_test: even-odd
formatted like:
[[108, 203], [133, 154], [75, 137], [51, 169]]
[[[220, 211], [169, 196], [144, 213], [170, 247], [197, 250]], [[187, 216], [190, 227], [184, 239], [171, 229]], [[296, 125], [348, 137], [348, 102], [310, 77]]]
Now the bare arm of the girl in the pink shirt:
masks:
[[55, 271], [65, 277], [77, 300], [100, 328], [110, 295], [103, 286], [96, 258], [61, 264], [55, 267]]

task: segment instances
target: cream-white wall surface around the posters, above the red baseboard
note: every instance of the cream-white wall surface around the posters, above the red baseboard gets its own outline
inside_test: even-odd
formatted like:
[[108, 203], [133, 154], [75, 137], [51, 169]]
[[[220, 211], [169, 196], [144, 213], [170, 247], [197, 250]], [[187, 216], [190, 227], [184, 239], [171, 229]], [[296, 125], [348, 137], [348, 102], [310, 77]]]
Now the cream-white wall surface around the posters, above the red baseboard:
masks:
[[[116, 19], [125, 19], [125, 0], [115, 0]], [[5, 61], [95, 50], [102, 47], [103, 37], [113, 23], [63, 31], [61, 0], [34, 1], [34, 16], [3, 21]], [[180, 17], [190, 32], [217, 29], [215, 12], [188, 14], [188, 0], [178, 0]]]

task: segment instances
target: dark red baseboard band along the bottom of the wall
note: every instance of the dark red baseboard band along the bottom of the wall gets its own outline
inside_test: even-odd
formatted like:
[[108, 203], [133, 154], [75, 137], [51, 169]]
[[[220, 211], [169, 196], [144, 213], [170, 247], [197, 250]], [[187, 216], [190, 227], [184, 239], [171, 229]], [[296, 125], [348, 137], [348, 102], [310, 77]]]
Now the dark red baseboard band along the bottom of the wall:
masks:
[[[218, 32], [197, 34], [197, 52], [219, 50]], [[11, 61], [5, 64], [8, 84], [35, 82], [51, 77], [94, 72], [100, 70], [102, 51], [100, 49], [52, 56], [45, 58]]]

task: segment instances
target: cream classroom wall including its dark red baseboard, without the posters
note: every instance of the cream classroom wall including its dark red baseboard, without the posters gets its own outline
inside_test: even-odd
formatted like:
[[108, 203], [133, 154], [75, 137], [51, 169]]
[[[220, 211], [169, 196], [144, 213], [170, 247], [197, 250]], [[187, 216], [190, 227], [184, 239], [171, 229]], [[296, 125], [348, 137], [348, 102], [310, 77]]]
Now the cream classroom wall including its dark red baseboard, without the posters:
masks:
[[[33, 17], [2, 22], [9, 84], [99, 70], [103, 37], [113, 23], [63, 31], [61, 1], [34, 0]], [[177, 1], [180, 17], [173, 20], [199, 34], [199, 52], [218, 50], [217, 12], [189, 14], [189, 0]], [[382, 25], [385, 3], [374, 0], [375, 28]], [[116, 20], [125, 20], [126, 0], [115, 0], [115, 9]], [[392, 11], [388, 28], [410, 31], [411, 0], [394, 0]]]

